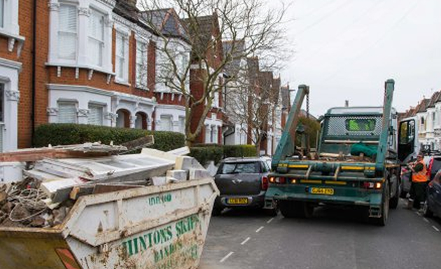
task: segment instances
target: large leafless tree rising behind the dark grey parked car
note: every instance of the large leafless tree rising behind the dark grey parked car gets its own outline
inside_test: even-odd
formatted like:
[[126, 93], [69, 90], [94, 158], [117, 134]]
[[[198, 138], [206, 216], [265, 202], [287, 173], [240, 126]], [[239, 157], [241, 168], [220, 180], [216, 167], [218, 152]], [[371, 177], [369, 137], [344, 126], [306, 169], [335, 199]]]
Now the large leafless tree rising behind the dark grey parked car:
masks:
[[[157, 82], [183, 95], [186, 101], [187, 144], [192, 144], [200, 134], [216, 92], [221, 94], [224, 83], [238, 79], [236, 76], [220, 79], [225, 66], [233, 60], [253, 55], [259, 55], [261, 61], [272, 65], [283, 57], [282, 52], [285, 51], [286, 38], [282, 28], [284, 6], [268, 10], [261, 0], [142, 0], [138, 6], [141, 10], [150, 11], [142, 18], [159, 36], [157, 49], [161, 60], [158, 62], [162, 72], [157, 73]], [[170, 39], [173, 33], [158, 24], [158, 13], [169, 11], [169, 15], [173, 15], [174, 11], [170, 8], [174, 8], [176, 16], [182, 19], [185, 33], [181, 34], [189, 47]], [[215, 30], [207, 34], [207, 27]], [[244, 47], [240, 53], [224, 55], [223, 39], [232, 41], [231, 52], [236, 51], [237, 41], [244, 41]], [[189, 78], [190, 69], [197, 69], [199, 73]], [[189, 80], [200, 83], [202, 93], [190, 91]], [[198, 106], [204, 109], [202, 117], [195, 118]], [[197, 123], [192, 124], [192, 120], [197, 120]]]

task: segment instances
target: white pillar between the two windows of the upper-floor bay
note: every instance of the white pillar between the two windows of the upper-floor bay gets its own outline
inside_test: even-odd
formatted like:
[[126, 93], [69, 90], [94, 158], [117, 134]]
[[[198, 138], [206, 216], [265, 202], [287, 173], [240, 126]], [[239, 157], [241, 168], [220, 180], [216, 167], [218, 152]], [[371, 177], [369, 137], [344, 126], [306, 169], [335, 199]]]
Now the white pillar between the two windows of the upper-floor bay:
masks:
[[89, 39], [89, 17], [90, 9], [86, 1], [80, 1], [78, 8], [78, 64], [88, 64], [89, 57], [87, 55], [87, 43]]

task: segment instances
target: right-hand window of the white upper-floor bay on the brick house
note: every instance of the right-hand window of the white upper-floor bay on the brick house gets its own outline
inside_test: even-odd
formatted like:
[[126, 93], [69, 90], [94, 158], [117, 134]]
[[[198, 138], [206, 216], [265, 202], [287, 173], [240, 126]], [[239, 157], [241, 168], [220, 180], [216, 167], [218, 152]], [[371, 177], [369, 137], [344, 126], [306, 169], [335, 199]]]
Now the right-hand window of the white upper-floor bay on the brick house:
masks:
[[89, 18], [90, 64], [102, 67], [104, 50], [104, 14], [91, 9]]

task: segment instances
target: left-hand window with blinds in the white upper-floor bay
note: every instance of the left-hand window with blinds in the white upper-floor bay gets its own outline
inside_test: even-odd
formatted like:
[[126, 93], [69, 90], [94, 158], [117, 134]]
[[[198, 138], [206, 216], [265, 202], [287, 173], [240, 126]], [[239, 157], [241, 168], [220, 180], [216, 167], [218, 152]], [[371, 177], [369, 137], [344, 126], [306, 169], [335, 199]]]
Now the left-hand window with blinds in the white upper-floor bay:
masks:
[[76, 6], [59, 6], [58, 57], [63, 60], [76, 60], [78, 35], [78, 11]]

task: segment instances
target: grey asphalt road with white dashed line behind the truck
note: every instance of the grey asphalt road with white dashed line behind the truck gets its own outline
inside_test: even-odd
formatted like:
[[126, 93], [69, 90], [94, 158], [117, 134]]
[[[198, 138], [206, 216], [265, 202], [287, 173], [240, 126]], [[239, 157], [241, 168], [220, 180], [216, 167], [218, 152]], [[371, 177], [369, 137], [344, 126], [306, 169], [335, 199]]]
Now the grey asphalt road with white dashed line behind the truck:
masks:
[[385, 227], [342, 207], [318, 207], [311, 219], [228, 210], [211, 218], [199, 269], [441, 268], [440, 219], [404, 205]]

